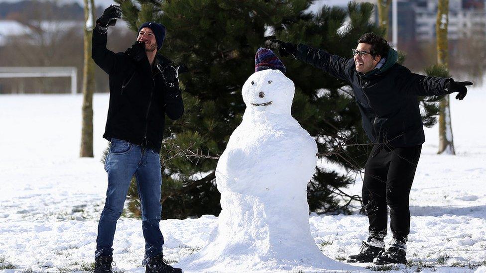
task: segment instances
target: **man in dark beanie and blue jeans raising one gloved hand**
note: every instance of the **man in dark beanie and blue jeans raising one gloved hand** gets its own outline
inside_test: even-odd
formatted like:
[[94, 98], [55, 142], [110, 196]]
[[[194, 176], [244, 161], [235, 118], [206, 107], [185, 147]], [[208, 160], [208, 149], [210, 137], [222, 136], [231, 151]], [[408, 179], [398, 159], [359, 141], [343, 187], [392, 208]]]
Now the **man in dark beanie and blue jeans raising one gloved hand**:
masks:
[[184, 112], [178, 71], [170, 60], [157, 54], [165, 38], [165, 27], [155, 22], [142, 24], [136, 42], [125, 52], [108, 50], [108, 26], [121, 17], [120, 7], [111, 5], [93, 30], [92, 58], [110, 79], [103, 137], [111, 142], [105, 161], [108, 190], [98, 224], [95, 273], [112, 272], [117, 220], [133, 176], [141, 203], [146, 272], [180, 273], [181, 269], [171, 267], [163, 259], [164, 237], [159, 228], [162, 211], [159, 152], [165, 115], [176, 120]]

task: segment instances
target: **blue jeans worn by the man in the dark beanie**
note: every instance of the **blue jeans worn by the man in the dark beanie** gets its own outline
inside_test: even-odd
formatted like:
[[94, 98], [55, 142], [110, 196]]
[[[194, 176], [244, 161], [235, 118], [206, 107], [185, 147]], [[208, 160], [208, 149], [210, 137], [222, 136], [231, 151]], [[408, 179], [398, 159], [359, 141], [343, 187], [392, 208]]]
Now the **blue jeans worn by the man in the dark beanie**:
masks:
[[162, 212], [160, 155], [158, 151], [112, 138], [105, 170], [108, 173], [108, 190], [105, 207], [98, 223], [95, 258], [113, 255], [117, 220], [122, 215], [130, 180], [135, 175], [141, 203], [145, 262], [161, 253], [164, 244], [164, 237], [159, 228]]

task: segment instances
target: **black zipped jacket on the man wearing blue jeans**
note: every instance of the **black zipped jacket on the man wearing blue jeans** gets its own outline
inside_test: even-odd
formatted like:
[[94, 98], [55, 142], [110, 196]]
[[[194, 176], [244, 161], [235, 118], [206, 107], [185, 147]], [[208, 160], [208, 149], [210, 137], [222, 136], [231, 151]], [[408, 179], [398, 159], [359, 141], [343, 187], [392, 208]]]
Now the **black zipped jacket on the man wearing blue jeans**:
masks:
[[[106, 48], [107, 33], [98, 27], [93, 31], [92, 58], [110, 79], [110, 104], [104, 138], [112, 137], [159, 151], [164, 134], [165, 114], [173, 120], [182, 116], [181, 90], [168, 90], [161, 69], [171, 63], [157, 55], [150, 67], [145, 56], [136, 62], [125, 53]], [[165, 92], [176, 92], [164, 99]]]

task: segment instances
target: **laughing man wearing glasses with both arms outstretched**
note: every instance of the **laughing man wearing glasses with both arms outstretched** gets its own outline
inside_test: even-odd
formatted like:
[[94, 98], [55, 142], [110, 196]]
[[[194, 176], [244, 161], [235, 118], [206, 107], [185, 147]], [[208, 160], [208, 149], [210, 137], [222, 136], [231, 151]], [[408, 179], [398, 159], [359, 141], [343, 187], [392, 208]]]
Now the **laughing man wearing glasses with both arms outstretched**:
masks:
[[[366, 135], [375, 143], [365, 165], [363, 206], [368, 237], [348, 262], [405, 264], [410, 233], [409, 194], [425, 141], [418, 96], [458, 92], [466, 96], [471, 82], [426, 77], [396, 63], [398, 53], [374, 33], [365, 33], [353, 58], [343, 58], [307, 45], [278, 44], [281, 56], [292, 55], [351, 84]], [[387, 206], [393, 238], [385, 250]]]

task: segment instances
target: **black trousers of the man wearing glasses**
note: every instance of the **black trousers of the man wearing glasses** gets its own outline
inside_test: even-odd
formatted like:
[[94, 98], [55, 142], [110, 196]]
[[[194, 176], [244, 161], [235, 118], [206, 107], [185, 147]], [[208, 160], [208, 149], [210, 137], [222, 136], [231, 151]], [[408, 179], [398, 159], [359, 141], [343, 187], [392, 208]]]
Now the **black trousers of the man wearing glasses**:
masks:
[[369, 232], [386, 235], [390, 207], [393, 238], [407, 239], [410, 233], [409, 195], [422, 145], [389, 148], [375, 145], [365, 165], [363, 207]]

